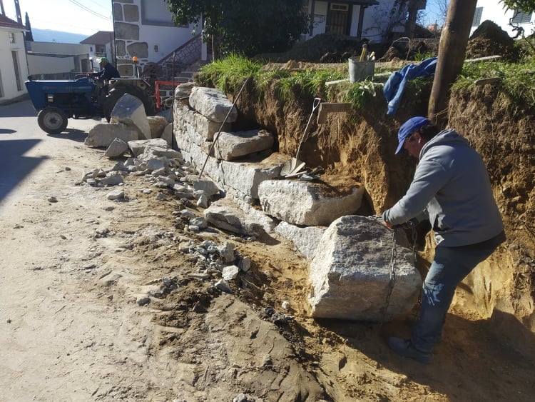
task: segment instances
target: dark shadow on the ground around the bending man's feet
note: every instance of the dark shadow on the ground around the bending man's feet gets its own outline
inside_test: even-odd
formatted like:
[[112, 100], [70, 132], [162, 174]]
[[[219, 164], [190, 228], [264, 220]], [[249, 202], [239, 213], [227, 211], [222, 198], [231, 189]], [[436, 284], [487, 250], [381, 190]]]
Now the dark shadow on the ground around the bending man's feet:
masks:
[[[535, 335], [509, 313], [469, 321], [449, 314], [434, 361], [423, 365], [389, 350], [387, 338], [409, 338], [407, 321], [370, 324], [322, 320], [322, 326], [347, 339], [347, 346], [379, 366], [404, 374], [451, 401], [533, 401]], [[350, 359], [348, 353], [347, 359]]]

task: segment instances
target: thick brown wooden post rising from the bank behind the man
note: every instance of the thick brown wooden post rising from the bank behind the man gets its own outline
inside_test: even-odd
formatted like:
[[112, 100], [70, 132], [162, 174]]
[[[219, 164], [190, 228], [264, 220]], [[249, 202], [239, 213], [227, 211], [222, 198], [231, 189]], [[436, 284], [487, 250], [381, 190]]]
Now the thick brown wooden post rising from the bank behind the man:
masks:
[[439, 43], [439, 58], [429, 98], [428, 116], [439, 128], [448, 121], [450, 89], [462, 71], [477, 0], [451, 0]]

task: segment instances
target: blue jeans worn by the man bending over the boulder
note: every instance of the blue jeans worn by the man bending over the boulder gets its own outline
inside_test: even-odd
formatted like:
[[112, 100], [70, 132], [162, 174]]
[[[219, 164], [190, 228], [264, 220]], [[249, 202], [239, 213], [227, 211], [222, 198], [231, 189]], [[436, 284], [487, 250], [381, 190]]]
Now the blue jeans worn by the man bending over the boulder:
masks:
[[422, 286], [420, 318], [412, 330], [412, 344], [422, 352], [432, 352], [442, 333], [446, 313], [452, 304], [457, 284], [496, 247], [470, 249], [437, 247], [434, 260]]

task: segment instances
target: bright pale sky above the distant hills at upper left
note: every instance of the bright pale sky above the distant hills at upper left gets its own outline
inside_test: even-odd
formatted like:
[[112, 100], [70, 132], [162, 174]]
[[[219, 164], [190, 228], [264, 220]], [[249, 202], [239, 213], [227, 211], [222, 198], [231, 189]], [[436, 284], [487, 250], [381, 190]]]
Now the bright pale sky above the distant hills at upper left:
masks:
[[[16, 21], [15, 0], [3, 0], [6, 16]], [[91, 36], [113, 31], [111, 0], [19, 0], [22, 24], [26, 12], [32, 28]]]

